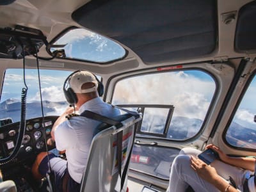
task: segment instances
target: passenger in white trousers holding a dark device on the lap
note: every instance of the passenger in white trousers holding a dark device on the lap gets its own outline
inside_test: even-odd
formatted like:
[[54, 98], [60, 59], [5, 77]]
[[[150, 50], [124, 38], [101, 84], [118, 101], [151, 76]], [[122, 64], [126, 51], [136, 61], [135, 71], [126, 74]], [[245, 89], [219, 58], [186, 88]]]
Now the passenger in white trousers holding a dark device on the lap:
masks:
[[[197, 191], [244, 191], [244, 182], [248, 176], [253, 175], [255, 170], [255, 159], [253, 157], [229, 157], [220, 148], [207, 145], [218, 152], [221, 161], [214, 160], [207, 165], [196, 156], [201, 153], [195, 148], [184, 148], [179, 156], [175, 157], [170, 173], [170, 182], [167, 191], [186, 191], [189, 186]], [[227, 180], [232, 178], [237, 189], [230, 185]], [[230, 179], [230, 180], [232, 180]], [[250, 177], [248, 190], [255, 192], [254, 177]]]

